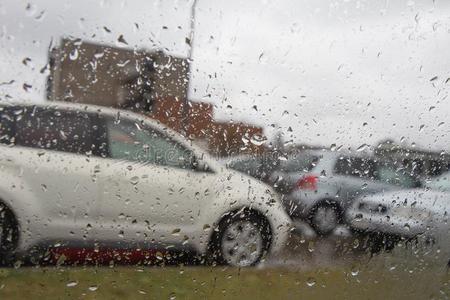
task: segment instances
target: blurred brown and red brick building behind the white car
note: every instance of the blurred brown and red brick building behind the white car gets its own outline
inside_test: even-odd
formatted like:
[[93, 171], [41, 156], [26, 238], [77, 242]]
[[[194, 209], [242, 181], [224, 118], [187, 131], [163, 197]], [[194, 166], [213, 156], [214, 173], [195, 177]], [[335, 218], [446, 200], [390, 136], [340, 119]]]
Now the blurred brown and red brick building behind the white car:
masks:
[[259, 153], [261, 127], [216, 122], [213, 106], [187, 98], [189, 62], [163, 51], [62, 39], [49, 53], [47, 99], [130, 109], [196, 140], [211, 153]]

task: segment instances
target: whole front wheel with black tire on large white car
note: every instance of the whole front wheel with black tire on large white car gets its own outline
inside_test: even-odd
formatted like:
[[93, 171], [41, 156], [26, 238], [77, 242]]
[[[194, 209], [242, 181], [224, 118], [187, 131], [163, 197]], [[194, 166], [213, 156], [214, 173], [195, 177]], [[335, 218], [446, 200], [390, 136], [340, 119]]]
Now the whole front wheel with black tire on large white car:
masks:
[[266, 218], [251, 211], [228, 216], [219, 223], [209, 246], [212, 264], [250, 267], [269, 251], [272, 233]]

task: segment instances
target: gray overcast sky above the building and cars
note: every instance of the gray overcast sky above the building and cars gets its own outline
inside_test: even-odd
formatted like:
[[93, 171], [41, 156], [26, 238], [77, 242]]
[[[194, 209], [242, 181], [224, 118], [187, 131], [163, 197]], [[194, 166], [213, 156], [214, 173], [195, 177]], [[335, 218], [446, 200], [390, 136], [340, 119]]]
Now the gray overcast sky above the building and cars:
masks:
[[[63, 35], [116, 44], [123, 34], [186, 56], [191, 4], [2, 0], [0, 84], [15, 82], [0, 97], [42, 99], [39, 69]], [[450, 151], [450, 1], [198, 0], [196, 12], [190, 95], [214, 103], [217, 119], [269, 135], [275, 124], [301, 143], [403, 138]]]

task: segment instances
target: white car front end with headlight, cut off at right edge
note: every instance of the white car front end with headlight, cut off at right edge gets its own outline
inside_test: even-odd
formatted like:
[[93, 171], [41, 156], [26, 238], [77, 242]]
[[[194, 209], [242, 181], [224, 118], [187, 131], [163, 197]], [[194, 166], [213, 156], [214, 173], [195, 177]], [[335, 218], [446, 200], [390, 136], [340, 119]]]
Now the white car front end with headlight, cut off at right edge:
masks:
[[[424, 189], [409, 189], [365, 195], [347, 210], [349, 226], [384, 238], [384, 246], [393, 248], [398, 238], [420, 237], [433, 244], [439, 256], [450, 258], [450, 190], [448, 173], [425, 184]], [[378, 240], [379, 242], [380, 240]], [[376, 244], [378, 243], [375, 241]], [[376, 245], [379, 251], [379, 245]]]

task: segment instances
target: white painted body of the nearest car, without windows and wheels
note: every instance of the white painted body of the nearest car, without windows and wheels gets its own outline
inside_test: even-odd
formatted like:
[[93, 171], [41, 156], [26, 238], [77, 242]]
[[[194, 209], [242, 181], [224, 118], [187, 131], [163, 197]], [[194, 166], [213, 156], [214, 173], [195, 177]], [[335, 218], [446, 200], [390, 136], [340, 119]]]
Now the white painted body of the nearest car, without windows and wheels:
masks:
[[270, 187], [228, 170], [181, 135], [128, 111], [65, 103], [37, 107], [120, 116], [148, 126], [192, 151], [209, 171], [0, 145], [0, 199], [19, 223], [17, 253], [74, 245], [204, 254], [219, 220], [243, 208], [267, 218], [272, 252], [284, 246], [291, 220]]

